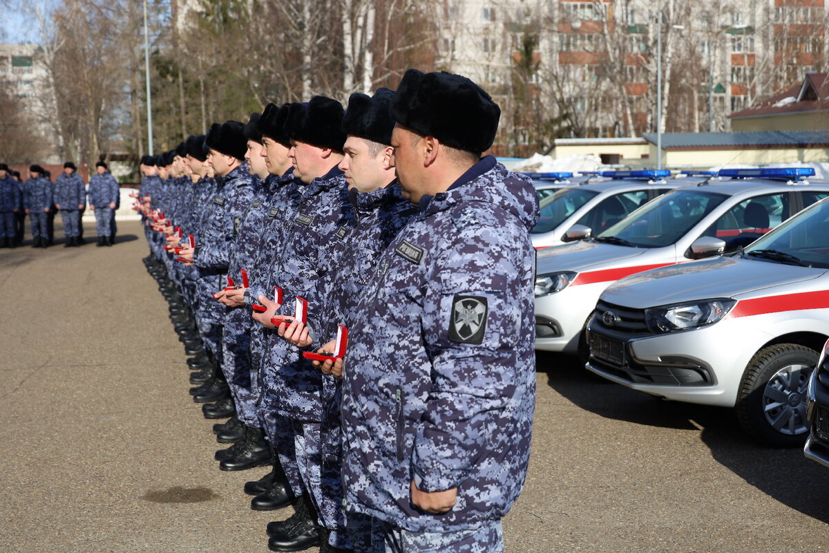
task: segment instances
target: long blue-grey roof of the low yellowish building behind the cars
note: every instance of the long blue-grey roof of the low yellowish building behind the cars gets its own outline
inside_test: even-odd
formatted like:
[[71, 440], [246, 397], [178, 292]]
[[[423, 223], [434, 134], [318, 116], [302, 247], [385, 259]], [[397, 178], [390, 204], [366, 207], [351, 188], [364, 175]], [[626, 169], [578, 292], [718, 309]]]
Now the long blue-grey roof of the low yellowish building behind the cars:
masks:
[[[657, 133], [644, 133], [650, 143], [657, 143]], [[809, 146], [829, 144], [829, 131], [774, 130], [743, 133], [662, 133], [662, 148], [739, 146]]]

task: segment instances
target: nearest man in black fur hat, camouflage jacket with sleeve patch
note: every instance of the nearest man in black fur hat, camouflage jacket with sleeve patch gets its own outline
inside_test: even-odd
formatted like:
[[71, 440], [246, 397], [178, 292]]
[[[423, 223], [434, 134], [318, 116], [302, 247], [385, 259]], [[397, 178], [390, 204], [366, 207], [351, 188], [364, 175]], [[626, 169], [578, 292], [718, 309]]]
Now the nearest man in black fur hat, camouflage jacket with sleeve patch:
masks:
[[391, 114], [397, 175], [420, 212], [351, 328], [347, 509], [372, 517], [375, 551], [503, 551], [535, 403], [536, 194], [480, 159], [500, 109], [472, 81], [409, 70]]

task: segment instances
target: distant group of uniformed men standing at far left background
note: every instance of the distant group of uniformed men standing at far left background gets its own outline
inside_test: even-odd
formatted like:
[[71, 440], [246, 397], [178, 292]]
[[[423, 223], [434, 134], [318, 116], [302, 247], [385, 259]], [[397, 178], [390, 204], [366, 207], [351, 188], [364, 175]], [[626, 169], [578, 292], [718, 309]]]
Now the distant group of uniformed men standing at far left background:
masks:
[[[85, 187], [74, 163], [66, 162], [64, 170], [51, 182], [50, 174], [40, 165], [29, 167], [29, 178], [20, 182], [19, 173], [9, 171], [0, 163], [0, 247], [17, 247], [23, 241], [28, 215], [32, 227], [32, 247], [46, 248], [54, 242], [54, 217], [58, 211], [64, 222], [65, 247], [83, 243], [80, 218], [86, 209], [95, 211], [98, 245], [113, 245], [115, 210], [119, 207], [119, 184], [104, 162], [95, 164], [96, 174]], [[15, 178], [14, 174], [18, 177]]]

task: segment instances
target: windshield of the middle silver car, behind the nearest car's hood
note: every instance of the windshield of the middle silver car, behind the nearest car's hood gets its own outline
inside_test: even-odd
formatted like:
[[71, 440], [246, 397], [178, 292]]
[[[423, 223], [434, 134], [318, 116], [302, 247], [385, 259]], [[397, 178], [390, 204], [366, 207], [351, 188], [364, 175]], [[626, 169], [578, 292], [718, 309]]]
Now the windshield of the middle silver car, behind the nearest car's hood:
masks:
[[637, 248], [662, 248], [686, 235], [726, 197], [696, 190], [670, 192], [633, 211], [595, 240]]

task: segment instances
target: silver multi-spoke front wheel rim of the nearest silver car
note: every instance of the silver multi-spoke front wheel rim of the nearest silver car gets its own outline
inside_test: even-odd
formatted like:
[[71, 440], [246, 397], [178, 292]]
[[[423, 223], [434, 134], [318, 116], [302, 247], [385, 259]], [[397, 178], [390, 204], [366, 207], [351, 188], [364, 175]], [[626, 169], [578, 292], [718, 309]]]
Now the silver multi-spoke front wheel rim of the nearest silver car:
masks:
[[763, 392], [763, 412], [780, 434], [795, 436], [808, 430], [806, 388], [811, 366], [789, 365], [777, 371]]

